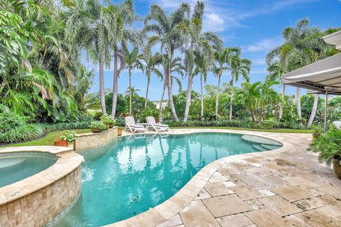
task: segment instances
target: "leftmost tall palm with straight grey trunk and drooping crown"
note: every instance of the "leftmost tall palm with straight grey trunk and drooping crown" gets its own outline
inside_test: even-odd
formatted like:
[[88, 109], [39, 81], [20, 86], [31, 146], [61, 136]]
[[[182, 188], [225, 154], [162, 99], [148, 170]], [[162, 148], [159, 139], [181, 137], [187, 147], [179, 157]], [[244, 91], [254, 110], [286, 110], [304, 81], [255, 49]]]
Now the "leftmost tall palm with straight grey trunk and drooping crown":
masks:
[[[75, 2], [67, 19], [67, 36], [75, 50], [86, 48], [87, 56], [99, 64], [99, 96], [102, 113], [106, 114], [104, 92], [104, 63], [109, 67], [111, 60], [107, 39], [109, 30], [104, 26], [105, 6], [97, 0]], [[79, 51], [78, 51], [79, 52]]]

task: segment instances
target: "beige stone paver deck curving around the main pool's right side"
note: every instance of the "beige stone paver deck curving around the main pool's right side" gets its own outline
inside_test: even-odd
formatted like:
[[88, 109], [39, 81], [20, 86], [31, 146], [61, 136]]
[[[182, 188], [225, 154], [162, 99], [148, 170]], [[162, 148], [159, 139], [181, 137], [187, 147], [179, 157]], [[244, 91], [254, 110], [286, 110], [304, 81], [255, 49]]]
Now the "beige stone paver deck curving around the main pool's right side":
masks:
[[[170, 133], [189, 131], [239, 132]], [[240, 132], [283, 147], [208, 164], [163, 204], [109, 226], [341, 226], [341, 180], [306, 152], [310, 134]]]

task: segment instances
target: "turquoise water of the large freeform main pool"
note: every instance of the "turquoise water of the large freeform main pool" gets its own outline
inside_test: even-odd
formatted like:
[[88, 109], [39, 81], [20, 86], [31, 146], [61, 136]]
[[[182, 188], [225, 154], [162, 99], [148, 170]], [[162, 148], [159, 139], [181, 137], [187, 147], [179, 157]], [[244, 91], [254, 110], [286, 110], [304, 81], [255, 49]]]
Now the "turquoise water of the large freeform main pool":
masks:
[[173, 196], [210, 162], [281, 147], [261, 142], [228, 133], [141, 134], [80, 152], [85, 157], [80, 198], [50, 226], [102, 226], [135, 216]]

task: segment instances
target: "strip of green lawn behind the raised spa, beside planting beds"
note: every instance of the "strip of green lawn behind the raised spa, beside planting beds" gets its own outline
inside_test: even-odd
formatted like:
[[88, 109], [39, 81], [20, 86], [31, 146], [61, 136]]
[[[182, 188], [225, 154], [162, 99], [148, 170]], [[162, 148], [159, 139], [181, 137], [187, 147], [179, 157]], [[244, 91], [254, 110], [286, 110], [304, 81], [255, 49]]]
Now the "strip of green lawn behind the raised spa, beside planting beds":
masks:
[[[55, 141], [55, 139], [59, 139], [64, 134], [64, 132], [66, 132], [66, 131], [67, 130], [56, 131], [56, 132], [49, 132], [43, 138], [35, 139], [35, 140], [32, 140], [32, 141], [28, 141], [28, 142], [21, 142], [21, 143], [18, 143], [18, 144], [6, 144], [5, 147], [53, 145], [53, 142]], [[78, 134], [91, 132], [90, 129], [87, 129], [87, 130], [72, 130], [72, 131], [75, 131]]]

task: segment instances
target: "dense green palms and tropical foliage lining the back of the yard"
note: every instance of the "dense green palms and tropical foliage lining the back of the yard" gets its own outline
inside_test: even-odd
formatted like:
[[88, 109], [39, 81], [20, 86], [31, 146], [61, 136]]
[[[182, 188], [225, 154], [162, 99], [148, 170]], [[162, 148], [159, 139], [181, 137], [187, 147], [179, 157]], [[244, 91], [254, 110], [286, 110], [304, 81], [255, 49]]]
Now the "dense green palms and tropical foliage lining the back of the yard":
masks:
[[[13, 127], [15, 132], [6, 125], [0, 142], [40, 136], [46, 130], [37, 122], [54, 123], [44, 125], [48, 130], [82, 128], [107, 114], [112, 119], [134, 115], [141, 121], [152, 115], [173, 125], [182, 120], [183, 125], [301, 128], [323, 122], [325, 103], [318, 95], [301, 97], [298, 89], [291, 97], [280, 82], [284, 73], [338, 53], [323, 36], [339, 28], [323, 31], [306, 19], [284, 28], [283, 43], [266, 56], [266, 80], [251, 83], [251, 60], [243, 57], [241, 48], [224, 45], [217, 33], [203, 31], [204, 18], [203, 1], [193, 7], [179, 4], [172, 12], [152, 4], [144, 18], [135, 13], [132, 0], [1, 1], [0, 113], [10, 122], [15, 116], [21, 125]], [[136, 29], [136, 21], [143, 28]], [[85, 68], [82, 56], [98, 69]], [[113, 71], [112, 89], [104, 89], [105, 69]], [[98, 93], [88, 94], [95, 70]], [[128, 72], [129, 86], [119, 94], [122, 70]], [[139, 95], [141, 87], [134, 87], [135, 70], [146, 77], [144, 97]], [[217, 85], [206, 85], [210, 74]], [[199, 91], [192, 88], [195, 77]], [[156, 104], [148, 99], [154, 78], [162, 84]], [[175, 83], [179, 91], [173, 95]], [[341, 117], [340, 103], [338, 98], [330, 100], [330, 120]], [[98, 116], [87, 114], [99, 109]], [[23, 127], [31, 134], [19, 135]]]

